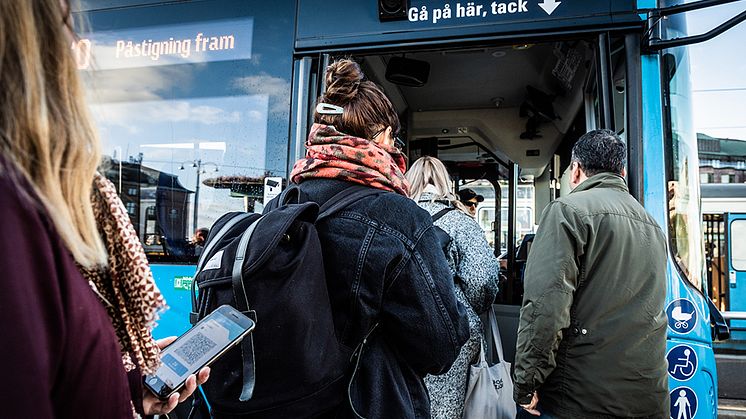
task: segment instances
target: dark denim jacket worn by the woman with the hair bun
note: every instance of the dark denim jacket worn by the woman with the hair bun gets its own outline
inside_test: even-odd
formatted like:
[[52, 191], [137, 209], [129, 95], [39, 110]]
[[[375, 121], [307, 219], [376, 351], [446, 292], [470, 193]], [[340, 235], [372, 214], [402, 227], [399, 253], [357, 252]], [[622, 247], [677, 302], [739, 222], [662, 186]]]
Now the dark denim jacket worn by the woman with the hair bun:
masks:
[[[313, 179], [300, 185], [323, 204], [350, 183]], [[417, 204], [381, 191], [316, 226], [324, 248], [329, 296], [340, 343], [368, 338], [337, 417], [429, 418], [423, 382], [450, 368], [469, 338], [464, 306], [432, 220]]]

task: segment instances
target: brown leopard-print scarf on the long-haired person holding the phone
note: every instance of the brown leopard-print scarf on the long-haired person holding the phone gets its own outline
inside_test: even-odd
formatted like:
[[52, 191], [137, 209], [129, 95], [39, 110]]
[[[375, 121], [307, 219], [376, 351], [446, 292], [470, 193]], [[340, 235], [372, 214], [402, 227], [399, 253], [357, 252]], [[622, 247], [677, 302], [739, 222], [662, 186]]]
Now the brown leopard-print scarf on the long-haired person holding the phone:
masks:
[[160, 350], [151, 332], [166, 302], [114, 184], [100, 174], [94, 179], [91, 202], [109, 263], [81, 271], [111, 317], [125, 370], [139, 367], [143, 374], [152, 374], [160, 364]]

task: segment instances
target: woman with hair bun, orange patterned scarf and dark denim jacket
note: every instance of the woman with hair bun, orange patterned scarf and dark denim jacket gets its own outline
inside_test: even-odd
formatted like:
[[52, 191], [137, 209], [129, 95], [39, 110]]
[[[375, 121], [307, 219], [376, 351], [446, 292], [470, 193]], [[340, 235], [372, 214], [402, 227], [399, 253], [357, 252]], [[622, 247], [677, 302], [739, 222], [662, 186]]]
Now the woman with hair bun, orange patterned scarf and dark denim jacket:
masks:
[[430, 216], [407, 197], [393, 105], [352, 60], [332, 63], [326, 86], [291, 179], [319, 205], [365, 190], [316, 225], [339, 343], [352, 353], [365, 341], [330, 417], [427, 418], [423, 377], [458, 356], [464, 307]]

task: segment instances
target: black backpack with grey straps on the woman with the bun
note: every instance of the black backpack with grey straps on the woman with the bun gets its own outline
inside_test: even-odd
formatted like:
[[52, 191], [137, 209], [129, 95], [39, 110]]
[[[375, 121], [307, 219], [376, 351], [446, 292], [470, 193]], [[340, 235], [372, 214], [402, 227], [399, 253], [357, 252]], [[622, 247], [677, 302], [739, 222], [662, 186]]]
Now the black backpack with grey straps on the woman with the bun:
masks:
[[230, 304], [256, 322], [202, 386], [216, 417], [314, 417], [347, 400], [352, 353], [336, 338], [315, 223], [380, 192], [351, 186], [319, 207], [291, 185], [263, 215], [233, 212], [212, 226], [190, 321]]

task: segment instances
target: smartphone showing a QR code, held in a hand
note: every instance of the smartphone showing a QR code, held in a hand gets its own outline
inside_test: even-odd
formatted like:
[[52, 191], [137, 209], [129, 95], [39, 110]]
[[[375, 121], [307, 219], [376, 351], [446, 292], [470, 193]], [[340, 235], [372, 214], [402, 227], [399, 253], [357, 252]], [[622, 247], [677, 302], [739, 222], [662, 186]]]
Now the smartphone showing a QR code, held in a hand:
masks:
[[238, 345], [254, 327], [254, 322], [235, 308], [218, 307], [163, 349], [162, 364], [155, 374], [145, 376], [145, 387], [158, 398], [168, 399], [186, 384], [190, 374]]

